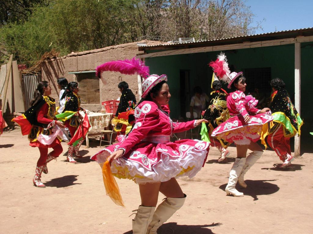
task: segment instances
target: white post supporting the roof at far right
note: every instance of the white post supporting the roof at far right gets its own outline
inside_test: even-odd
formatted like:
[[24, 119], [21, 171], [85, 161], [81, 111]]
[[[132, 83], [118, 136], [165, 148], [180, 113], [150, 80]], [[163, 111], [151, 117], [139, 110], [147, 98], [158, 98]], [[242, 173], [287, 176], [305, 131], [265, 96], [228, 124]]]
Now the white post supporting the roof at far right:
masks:
[[[301, 104], [301, 43], [295, 43], [295, 109], [300, 115]], [[300, 156], [300, 136], [295, 135], [295, 157]]]

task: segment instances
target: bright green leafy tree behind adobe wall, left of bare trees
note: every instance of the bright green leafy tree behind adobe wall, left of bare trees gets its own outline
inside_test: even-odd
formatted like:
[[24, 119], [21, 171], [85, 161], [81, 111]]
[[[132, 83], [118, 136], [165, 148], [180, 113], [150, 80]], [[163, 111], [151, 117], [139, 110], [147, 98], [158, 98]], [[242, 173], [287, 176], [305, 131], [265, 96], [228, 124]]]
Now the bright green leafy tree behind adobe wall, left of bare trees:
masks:
[[8, 53], [21, 62], [36, 61], [54, 48], [61, 55], [129, 41], [126, 13], [133, 0], [54, 0], [33, 8], [23, 24], [0, 29]]

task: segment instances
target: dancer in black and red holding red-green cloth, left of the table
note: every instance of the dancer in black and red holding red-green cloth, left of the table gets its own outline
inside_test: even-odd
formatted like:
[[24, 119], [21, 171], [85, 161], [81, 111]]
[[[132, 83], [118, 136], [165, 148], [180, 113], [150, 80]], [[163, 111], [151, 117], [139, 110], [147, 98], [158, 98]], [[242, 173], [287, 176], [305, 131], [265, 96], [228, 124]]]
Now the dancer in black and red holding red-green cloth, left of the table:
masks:
[[[79, 114], [80, 110], [83, 110], [80, 108], [80, 96], [78, 95], [79, 88], [77, 82], [69, 82], [68, 87], [66, 89], [66, 92], [63, 93], [61, 99], [65, 98], [65, 104], [64, 104], [64, 110], [62, 113], [68, 112], [68, 113], [75, 113], [72, 115], [69, 119], [62, 119], [65, 120], [64, 125], [69, 129], [69, 132], [71, 136], [73, 137], [75, 134], [76, 129], [78, 128], [80, 124], [80, 120], [83, 119], [83, 117]], [[75, 147], [70, 144], [69, 145], [69, 151], [67, 154], [67, 161], [70, 163], [77, 163], [74, 158], [73, 154], [77, 158], [81, 158], [79, 154], [79, 148], [80, 145], [83, 143], [84, 139], [80, 140]]]

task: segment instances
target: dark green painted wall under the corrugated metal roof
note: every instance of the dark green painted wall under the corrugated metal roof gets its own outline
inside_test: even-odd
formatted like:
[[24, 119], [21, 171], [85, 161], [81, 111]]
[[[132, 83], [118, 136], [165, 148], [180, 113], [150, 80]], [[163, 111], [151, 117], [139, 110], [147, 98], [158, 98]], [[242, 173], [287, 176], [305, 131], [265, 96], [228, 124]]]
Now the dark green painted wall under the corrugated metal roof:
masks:
[[[153, 52], [153, 51], [151, 51]], [[251, 49], [239, 49], [232, 51], [223, 51], [228, 59], [229, 65], [235, 67], [235, 71], [244, 71], [248, 68], [271, 68], [271, 78], [279, 77], [286, 83], [286, 89], [289, 91], [294, 102], [294, 60], [295, 47], [293, 44], [284, 46], [269, 46]], [[215, 60], [219, 51], [195, 53], [187, 55], [173, 55], [155, 58], [146, 58], [146, 65], [150, 66], [150, 73], [167, 74], [168, 84], [172, 94], [170, 100], [171, 117], [178, 119], [180, 116], [180, 70], [190, 70], [190, 87], [200, 85], [208, 95], [212, 91], [211, 79], [212, 69], [207, 65]], [[313, 131], [313, 117], [311, 112], [311, 93], [312, 93], [312, 73], [313, 73], [313, 43], [301, 44], [301, 117], [305, 125], [301, 132], [301, 149], [305, 152], [313, 151], [311, 147], [313, 136], [309, 132]], [[247, 85], [249, 85], [249, 77]], [[230, 90], [228, 90], [230, 91]], [[270, 92], [271, 90], [269, 90]], [[185, 117], [185, 116], [182, 116]], [[291, 143], [293, 145], [293, 143]]]

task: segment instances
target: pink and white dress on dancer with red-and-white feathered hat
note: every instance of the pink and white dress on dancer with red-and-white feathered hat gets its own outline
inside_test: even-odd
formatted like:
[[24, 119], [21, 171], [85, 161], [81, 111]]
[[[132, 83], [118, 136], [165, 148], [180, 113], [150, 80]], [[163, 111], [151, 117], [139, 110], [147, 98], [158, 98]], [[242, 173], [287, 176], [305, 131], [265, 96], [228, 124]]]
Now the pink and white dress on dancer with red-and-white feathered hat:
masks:
[[[250, 144], [260, 139], [264, 124], [273, 120], [270, 111], [258, 114], [259, 109], [255, 108], [258, 100], [251, 95], [246, 96], [242, 91], [235, 91], [227, 96], [227, 107], [231, 118], [218, 125], [212, 131], [212, 136], [239, 145]], [[249, 115], [248, 124], [244, 116]]]

